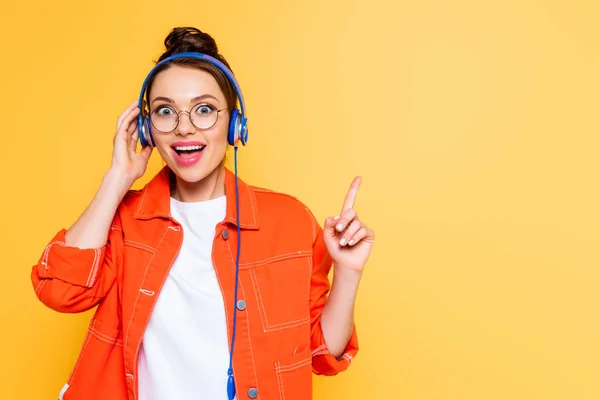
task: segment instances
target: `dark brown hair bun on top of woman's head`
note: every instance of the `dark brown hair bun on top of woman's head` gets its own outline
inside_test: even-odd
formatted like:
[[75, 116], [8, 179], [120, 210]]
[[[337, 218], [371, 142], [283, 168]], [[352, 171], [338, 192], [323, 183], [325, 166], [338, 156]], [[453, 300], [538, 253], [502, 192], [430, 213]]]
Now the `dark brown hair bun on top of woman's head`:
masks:
[[174, 28], [165, 38], [166, 51], [160, 57], [165, 59], [177, 53], [198, 52], [218, 57], [217, 43], [208, 33], [193, 27]]

